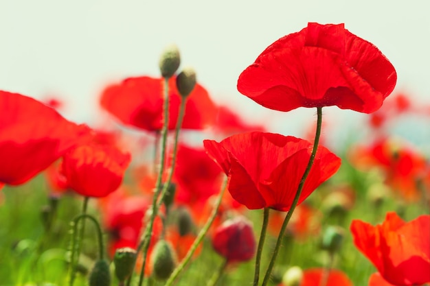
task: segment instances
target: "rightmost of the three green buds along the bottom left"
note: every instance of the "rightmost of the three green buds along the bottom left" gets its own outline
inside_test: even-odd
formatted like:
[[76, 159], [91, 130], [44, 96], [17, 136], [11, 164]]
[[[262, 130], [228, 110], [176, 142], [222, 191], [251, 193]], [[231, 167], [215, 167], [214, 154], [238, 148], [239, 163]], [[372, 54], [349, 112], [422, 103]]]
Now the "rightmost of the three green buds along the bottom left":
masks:
[[155, 244], [151, 254], [152, 275], [159, 280], [169, 278], [177, 263], [177, 257], [172, 245], [160, 239]]

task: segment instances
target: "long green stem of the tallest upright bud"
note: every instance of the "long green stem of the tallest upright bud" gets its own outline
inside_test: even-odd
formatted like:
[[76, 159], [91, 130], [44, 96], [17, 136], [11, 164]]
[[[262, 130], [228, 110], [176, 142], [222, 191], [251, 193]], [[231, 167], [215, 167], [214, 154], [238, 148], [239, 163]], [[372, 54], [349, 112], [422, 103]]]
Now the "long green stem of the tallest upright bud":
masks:
[[154, 226], [155, 217], [157, 217], [157, 199], [161, 192], [161, 179], [163, 178], [164, 165], [166, 164], [166, 146], [167, 146], [167, 135], [168, 135], [168, 127], [169, 127], [169, 78], [164, 78], [164, 111], [163, 111], [163, 129], [161, 130], [161, 158], [160, 158], [160, 167], [158, 170], [157, 182], [155, 183], [155, 193], [152, 198], [152, 209], [151, 216], [148, 222], [148, 226], [145, 228], [145, 233], [143, 237], [143, 262], [142, 269], [140, 270], [139, 276], [139, 286], [142, 286], [144, 282], [144, 273], [146, 266], [146, 258], [148, 257], [149, 243], [150, 237], [152, 234], [152, 228]]

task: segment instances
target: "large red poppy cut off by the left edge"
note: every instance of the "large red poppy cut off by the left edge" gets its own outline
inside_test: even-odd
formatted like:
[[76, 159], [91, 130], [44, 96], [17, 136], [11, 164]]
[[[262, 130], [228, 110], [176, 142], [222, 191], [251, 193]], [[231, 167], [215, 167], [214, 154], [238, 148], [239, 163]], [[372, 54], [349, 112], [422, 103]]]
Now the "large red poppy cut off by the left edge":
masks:
[[86, 126], [30, 97], [0, 91], [0, 182], [23, 184], [75, 145]]

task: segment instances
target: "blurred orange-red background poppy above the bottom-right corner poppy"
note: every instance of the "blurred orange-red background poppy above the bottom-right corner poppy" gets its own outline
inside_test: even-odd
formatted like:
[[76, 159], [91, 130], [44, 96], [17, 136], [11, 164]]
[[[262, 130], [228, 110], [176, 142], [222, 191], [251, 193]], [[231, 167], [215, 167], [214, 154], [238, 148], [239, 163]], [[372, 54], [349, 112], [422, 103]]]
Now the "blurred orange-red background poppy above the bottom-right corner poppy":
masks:
[[425, 180], [429, 172], [424, 156], [404, 143], [381, 139], [370, 146], [354, 147], [350, 156], [357, 167], [380, 167], [385, 172], [385, 182], [408, 201], [420, 198], [418, 180]]

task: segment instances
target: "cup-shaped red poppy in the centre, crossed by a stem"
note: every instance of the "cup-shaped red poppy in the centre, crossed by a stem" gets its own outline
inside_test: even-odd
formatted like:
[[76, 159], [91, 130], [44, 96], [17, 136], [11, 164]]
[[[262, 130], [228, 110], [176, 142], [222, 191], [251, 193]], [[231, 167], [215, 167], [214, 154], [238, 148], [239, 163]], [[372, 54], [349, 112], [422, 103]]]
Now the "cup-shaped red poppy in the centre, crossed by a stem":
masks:
[[[271, 207], [288, 211], [299, 181], [308, 165], [312, 146], [303, 139], [280, 134], [236, 134], [220, 143], [205, 140], [207, 154], [229, 176], [231, 196], [247, 208]], [[330, 178], [341, 160], [325, 147], [318, 147], [299, 203]]]

